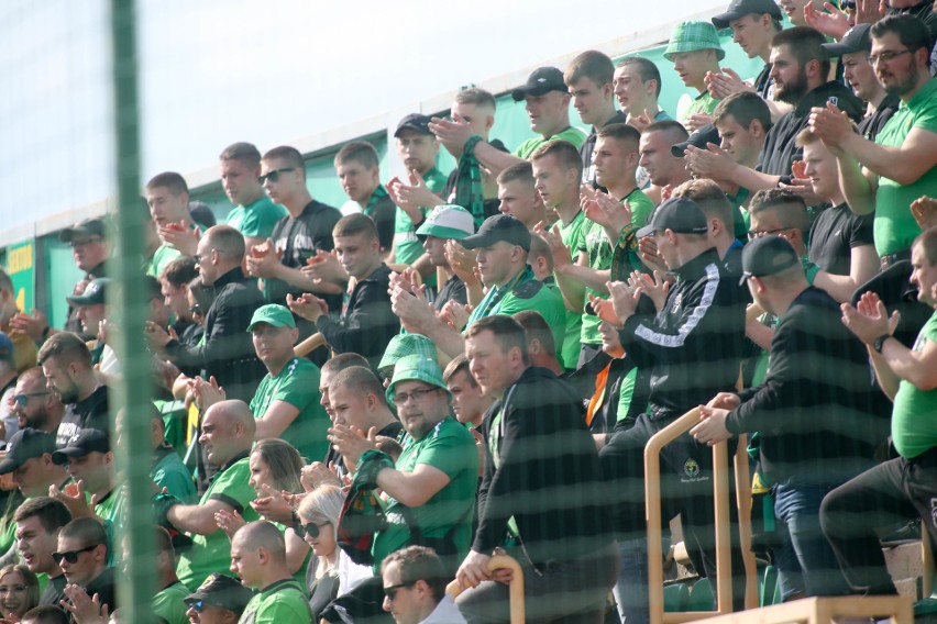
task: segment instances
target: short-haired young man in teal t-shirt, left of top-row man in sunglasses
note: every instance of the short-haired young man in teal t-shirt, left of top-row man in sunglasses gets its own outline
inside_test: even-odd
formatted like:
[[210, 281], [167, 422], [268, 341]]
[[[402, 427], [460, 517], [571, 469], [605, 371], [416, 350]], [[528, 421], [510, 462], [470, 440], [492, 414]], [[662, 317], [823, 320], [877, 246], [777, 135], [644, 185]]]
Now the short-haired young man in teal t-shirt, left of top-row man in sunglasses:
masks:
[[221, 187], [234, 204], [225, 223], [244, 235], [244, 245], [260, 245], [273, 233], [286, 209], [275, 204], [261, 186], [261, 153], [250, 143], [234, 143], [218, 157]]

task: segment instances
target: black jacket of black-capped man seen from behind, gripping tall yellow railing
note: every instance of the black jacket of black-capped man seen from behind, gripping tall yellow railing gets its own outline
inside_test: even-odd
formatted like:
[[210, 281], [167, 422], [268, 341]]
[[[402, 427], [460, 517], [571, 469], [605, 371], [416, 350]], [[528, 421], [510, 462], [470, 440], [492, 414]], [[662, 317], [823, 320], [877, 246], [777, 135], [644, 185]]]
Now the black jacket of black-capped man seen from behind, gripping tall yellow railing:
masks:
[[873, 411], [868, 354], [840, 317], [826, 291], [797, 296], [774, 330], [764, 382], [741, 392], [726, 419], [732, 433], [760, 433], [773, 482], [856, 475], [888, 436], [888, 414]]

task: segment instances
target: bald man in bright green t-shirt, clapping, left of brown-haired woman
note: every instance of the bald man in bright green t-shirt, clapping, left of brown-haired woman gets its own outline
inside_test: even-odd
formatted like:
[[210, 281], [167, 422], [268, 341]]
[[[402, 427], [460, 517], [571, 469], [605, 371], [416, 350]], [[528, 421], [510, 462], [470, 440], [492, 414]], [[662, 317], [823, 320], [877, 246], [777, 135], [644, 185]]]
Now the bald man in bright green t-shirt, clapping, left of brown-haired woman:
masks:
[[238, 513], [246, 521], [260, 516], [250, 505], [256, 497], [247, 484], [251, 469], [247, 456], [254, 441], [254, 415], [243, 401], [228, 400], [211, 405], [202, 417], [201, 437], [208, 460], [218, 466], [201, 500], [185, 505], [168, 494], [157, 494], [153, 506], [161, 524], [187, 532], [192, 546], [181, 554], [176, 573], [186, 587], [198, 587], [211, 572], [225, 572], [231, 554], [228, 536], [214, 522], [220, 511]]

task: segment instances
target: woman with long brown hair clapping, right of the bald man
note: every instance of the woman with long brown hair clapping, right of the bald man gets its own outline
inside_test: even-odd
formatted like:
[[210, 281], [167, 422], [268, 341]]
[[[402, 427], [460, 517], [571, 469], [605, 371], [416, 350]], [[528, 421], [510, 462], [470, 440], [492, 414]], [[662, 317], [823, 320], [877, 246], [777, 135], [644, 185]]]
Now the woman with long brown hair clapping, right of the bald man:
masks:
[[[247, 483], [257, 492], [257, 499], [251, 502], [251, 506], [284, 532], [286, 561], [296, 579], [305, 583], [310, 548], [289, 526], [293, 524], [293, 514], [283, 495], [304, 491], [299, 480], [302, 458], [289, 443], [271, 437], [254, 445], [249, 461], [251, 477]], [[245, 524], [240, 514], [227, 511], [214, 514], [214, 520], [229, 538]]]

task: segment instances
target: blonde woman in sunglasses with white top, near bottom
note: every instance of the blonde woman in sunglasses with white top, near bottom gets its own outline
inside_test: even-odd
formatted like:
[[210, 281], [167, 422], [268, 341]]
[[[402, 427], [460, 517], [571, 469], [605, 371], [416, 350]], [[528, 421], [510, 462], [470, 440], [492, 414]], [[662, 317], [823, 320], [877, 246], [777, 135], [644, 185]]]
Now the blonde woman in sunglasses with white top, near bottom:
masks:
[[318, 557], [309, 566], [309, 606], [316, 622], [319, 614], [332, 602], [361, 581], [372, 577], [371, 567], [359, 566], [339, 548], [335, 527], [345, 502], [345, 494], [334, 486], [319, 486], [302, 498], [296, 514], [297, 532]]

